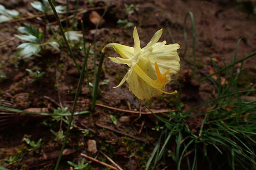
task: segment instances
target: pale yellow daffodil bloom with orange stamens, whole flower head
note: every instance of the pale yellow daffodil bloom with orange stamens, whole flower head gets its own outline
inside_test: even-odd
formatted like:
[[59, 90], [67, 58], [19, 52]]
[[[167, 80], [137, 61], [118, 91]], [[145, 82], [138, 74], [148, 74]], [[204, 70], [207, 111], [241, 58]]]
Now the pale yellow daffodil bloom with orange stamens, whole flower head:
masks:
[[134, 48], [118, 43], [109, 43], [105, 48], [113, 47], [121, 57], [109, 57], [111, 61], [118, 64], [127, 64], [129, 69], [123, 77], [119, 87], [125, 81], [129, 84], [129, 90], [140, 100], [150, 99], [165, 92], [165, 84], [171, 76], [180, 70], [180, 58], [177, 49], [179, 44], [165, 45], [166, 41], [158, 42], [163, 34], [163, 29], [158, 30], [150, 42], [144, 48], [140, 47], [136, 27], [133, 30]]

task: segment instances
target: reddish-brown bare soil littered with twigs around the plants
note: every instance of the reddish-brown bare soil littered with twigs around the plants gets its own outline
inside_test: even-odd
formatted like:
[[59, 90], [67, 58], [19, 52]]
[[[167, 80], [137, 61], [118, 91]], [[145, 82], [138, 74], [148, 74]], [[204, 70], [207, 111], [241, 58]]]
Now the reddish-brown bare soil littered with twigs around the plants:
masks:
[[[56, 0], [63, 2], [64, 0]], [[70, 7], [73, 8], [75, 0], [70, 0]], [[185, 107], [191, 109], [202, 102], [206, 102], [216, 96], [214, 86], [202, 82], [198, 83], [192, 77], [192, 34], [190, 29], [190, 19], [188, 26], [188, 51], [182, 56], [184, 51], [184, 17], [188, 11], [192, 11], [196, 27], [196, 35], [205, 47], [205, 50], [215, 59], [219, 67], [224, 67], [224, 62], [229, 65], [233, 61], [235, 46], [240, 37], [243, 37], [238, 49], [238, 59], [256, 51], [256, 17], [247, 14], [236, 8], [232, 1], [225, 0], [112, 0], [109, 4], [105, 0], [94, 0], [94, 7], [108, 5], [108, 11], [104, 17], [105, 22], [99, 30], [90, 22], [89, 12], [78, 16], [82, 18], [86, 27], [86, 41], [93, 43], [96, 37], [96, 49], [101, 49], [106, 43], [117, 42], [133, 46], [131, 28], [124, 28], [117, 25], [118, 19], [128, 19], [137, 27], [141, 40], [141, 46], [145, 46], [152, 35], [160, 28], [164, 33], [160, 41], [166, 40], [171, 43], [171, 38], [167, 33], [167, 26], [173, 35], [176, 43], [181, 45], [178, 50], [181, 56], [181, 70], [174, 76], [182, 85], [181, 100]], [[138, 10], [128, 14], [124, 4], [137, 5]], [[15, 8], [25, 17], [29, 12], [35, 14], [35, 10], [30, 6], [30, 0], [0, 0], [0, 4], [6, 8]], [[92, 7], [85, 1], [80, 2], [79, 8]], [[100, 15], [104, 9], [96, 10]], [[37, 13], [39, 14], [39, 13]], [[40, 19], [40, 18], [39, 18]], [[53, 16], [48, 16], [50, 22], [54, 22]], [[15, 55], [16, 47], [22, 42], [15, 38], [18, 34], [16, 27], [23, 23], [40, 26], [43, 28], [42, 20], [38, 18], [27, 19], [25, 21], [8, 22], [0, 24], [0, 70], [6, 74], [5, 79], [0, 79], [0, 103], [8, 102], [8, 106], [30, 111], [44, 110], [53, 112], [57, 107], [68, 107], [71, 110], [79, 74], [74, 69], [73, 60], [68, 56], [68, 51], [63, 45], [61, 52], [53, 51], [50, 48], [42, 53], [41, 57], [33, 56], [29, 59], [18, 59]], [[63, 22], [64, 24], [64, 22]], [[58, 26], [53, 28], [58, 31]], [[81, 30], [81, 25], [78, 25]], [[73, 46], [77, 62], [82, 65], [83, 57], [79, 47], [81, 43]], [[93, 47], [92, 47], [93, 49]], [[97, 51], [94, 51], [97, 52]], [[115, 51], [108, 50], [106, 57], [118, 56]], [[88, 68], [92, 80], [93, 54], [90, 54]], [[210, 74], [210, 59], [205, 55], [199, 46], [196, 51], [196, 63], [198, 65], [196, 77]], [[256, 83], [256, 59], [247, 59], [244, 62], [245, 70], [242, 72], [243, 78], [240, 80], [241, 87], [249, 83]], [[36, 79], [25, 70], [29, 68], [36, 70], [40, 68], [45, 74]], [[125, 75], [127, 67], [117, 65], [109, 59], [105, 59], [102, 68], [100, 84], [103, 80], [109, 80], [108, 84], [100, 85], [98, 103], [132, 111], [146, 112], [146, 104], [153, 110], [175, 109], [178, 96], [163, 94], [161, 97], [153, 98], [150, 101], [139, 101], [128, 90], [128, 85], [122, 85], [113, 89]], [[178, 90], [178, 85], [174, 82], [166, 85], [167, 91]], [[86, 80], [83, 80], [81, 95], [76, 111], [90, 110], [91, 95], [87, 87]], [[36, 109], [35, 109], [36, 108]], [[198, 111], [200, 112], [200, 110]], [[0, 113], [6, 113], [0, 110]], [[4, 114], [2, 114], [4, 115]], [[127, 122], [118, 121], [114, 125], [110, 119], [114, 115], [117, 119], [128, 116]], [[124, 170], [143, 170], [154, 144], [158, 139], [159, 132], [152, 130], [157, 120], [152, 115], [142, 115], [127, 113], [119, 110], [96, 106], [95, 112], [76, 116], [74, 127], [71, 131], [67, 150], [62, 161], [62, 169], [68, 169], [66, 161], [77, 162], [81, 160], [80, 153], [86, 153], [91, 157], [108, 162], [101, 154], [94, 154], [87, 151], [87, 141], [96, 140], [97, 148], [110, 156]], [[163, 115], [165, 116], [165, 115]], [[135, 121], [134, 121], [135, 120]], [[201, 117], [190, 117], [187, 119], [190, 129], [197, 130], [201, 125]], [[160, 124], [162, 125], [162, 124]], [[66, 129], [66, 124], [62, 123], [62, 128]], [[9, 158], [13, 155], [21, 155], [15, 164], [8, 165], [6, 161], [0, 164], [9, 169], [36, 170], [51, 169], [60, 151], [61, 142], [55, 141], [55, 136], [50, 132], [60, 130], [60, 121], [43, 116], [31, 116], [24, 113], [8, 113], [8, 117], [0, 114], [0, 159]], [[82, 129], [89, 129], [89, 135], [83, 136]], [[115, 130], [120, 133], [116, 132]], [[141, 133], [139, 133], [141, 131]], [[38, 141], [42, 138], [43, 147], [38, 152], [28, 151], [29, 146], [23, 141], [23, 137], [28, 136], [30, 140]], [[157, 169], [163, 169], [175, 165], [172, 163], [161, 163]], [[203, 166], [203, 165], [201, 165]], [[105, 169], [95, 162], [91, 163], [94, 170]], [[170, 167], [169, 167], [170, 168]], [[168, 168], [167, 168], [168, 169]]]

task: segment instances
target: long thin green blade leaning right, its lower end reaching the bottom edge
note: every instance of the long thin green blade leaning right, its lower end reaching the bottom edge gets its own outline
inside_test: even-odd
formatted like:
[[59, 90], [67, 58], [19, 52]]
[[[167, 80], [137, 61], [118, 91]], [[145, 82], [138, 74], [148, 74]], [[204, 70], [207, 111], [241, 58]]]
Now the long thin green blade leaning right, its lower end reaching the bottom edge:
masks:
[[71, 123], [73, 121], [73, 116], [74, 116], [74, 110], [75, 110], [76, 102], [77, 102], [78, 95], [79, 95], [80, 90], [81, 90], [82, 79], [83, 79], [83, 76], [84, 76], [84, 68], [86, 66], [86, 58], [88, 58], [88, 54], [89, 54], [89, 52], [87, 52], [86, 55], [84, 56], [84, 61], [83, 61], [83, 65], [82, 65], [82, 72], [80, 73], [80, 77], [79, 77], [79, 81], [78, 81], [78, 85], [77, 85], [77, 89], [76, 89], [76, 93], [75, 93], [75, 98], [74, 98], [74, 102], [73, 102], [73, 106], [72, 106], [72, 110], [71, 110], [71, 117], [70, 117], [70, 120], [68, 122], [68, 127], [67, 127], [67, 131], [65, 133], [65, 138], [64, 138], [64, 141], [63, 141], [63, 144], [62, 144], [62, 147], [61, 147], [61, 151], [60, 151], [57, 163], [55, 165], [55, 170], [57, 170], [58, 167], [59, 167], [59, 163], [60, 163], [60, 160], [61, 160], [61, 157], [62, 157], [62, 153], [63, 153], [63, 150], [64, 150], [65, 145], [67, 143], [67, 137], [69, 135]]

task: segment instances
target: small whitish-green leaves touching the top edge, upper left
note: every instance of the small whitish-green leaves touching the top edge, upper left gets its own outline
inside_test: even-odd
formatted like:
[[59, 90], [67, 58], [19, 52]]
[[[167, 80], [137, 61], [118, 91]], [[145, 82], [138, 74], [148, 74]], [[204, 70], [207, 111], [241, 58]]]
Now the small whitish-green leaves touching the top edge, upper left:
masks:
[[[35, 9], [39, 10], [43, 14], [53, 13], [53, 10], [52, 10], [48, 0], [43, 0], [43, 3], [36, 0], [34, 2], [31, 2], [31, 6]], [[56, 9], [56, 12], [59, 14], [65, 13], [63, 11], [65, 9], [65, 7], [62, 5], [56, 6], [55, 9]]]

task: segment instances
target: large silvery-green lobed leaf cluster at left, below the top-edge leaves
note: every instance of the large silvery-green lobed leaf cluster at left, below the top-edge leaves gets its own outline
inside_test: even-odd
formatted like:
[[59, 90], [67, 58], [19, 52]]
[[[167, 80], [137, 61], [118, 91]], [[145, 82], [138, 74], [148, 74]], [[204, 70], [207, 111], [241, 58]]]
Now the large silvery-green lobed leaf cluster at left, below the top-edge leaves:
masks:
[[20, 50], [20, 56], [24, 59], [29, 58], [32, 55], [38, 55], [41, 51], [41, 47], [45, 45], [51, 45], [55, 50], [59, 50], [58, 42], [50, 41], [42, 43], [44, 33], [39, 32], [38, 28], [34, 26], [24, 24], [24, 26], [18, 27], [18, 31], [22, 35], [15, 34], [15, 36], [23, 41], [27, 41], [17, 47], [17, 49]]

